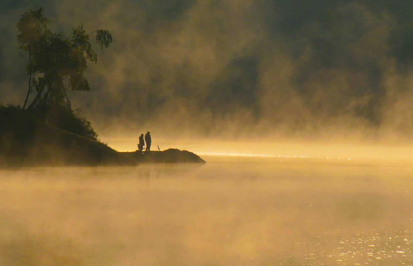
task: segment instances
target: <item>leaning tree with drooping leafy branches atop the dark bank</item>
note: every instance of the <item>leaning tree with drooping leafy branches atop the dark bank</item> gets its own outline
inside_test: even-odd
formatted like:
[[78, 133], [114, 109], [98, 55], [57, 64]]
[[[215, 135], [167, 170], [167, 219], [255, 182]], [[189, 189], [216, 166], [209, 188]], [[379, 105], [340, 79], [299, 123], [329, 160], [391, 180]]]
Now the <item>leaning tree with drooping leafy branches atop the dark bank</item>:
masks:
[[19, 31], [17, 42], [21, 55], [26, 58], [29, 76], [23, 108], [26, 108], [31, 93], [36, 96], [27, 109], [50, 105], [71, 108], [67, 91], [90, 91], [89, 82], [83, 77], [88, 61], [97, 62], [90, 35], [96, 34], [101, 50], [112, 43], [108, 30], [95, 30], [88, 34], [81, 25], [73, 28], [70, 37], [65, 37], [63, 33], [49, 30], [47, 25], [50, 23], [40, 7], [28, 9], [16, 25]]

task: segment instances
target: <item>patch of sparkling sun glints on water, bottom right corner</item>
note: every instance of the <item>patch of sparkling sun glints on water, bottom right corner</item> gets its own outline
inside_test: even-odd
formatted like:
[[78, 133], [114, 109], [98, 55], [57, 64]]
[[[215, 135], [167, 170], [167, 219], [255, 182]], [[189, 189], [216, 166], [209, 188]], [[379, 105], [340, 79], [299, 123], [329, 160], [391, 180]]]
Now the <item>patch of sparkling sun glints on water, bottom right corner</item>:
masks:
[[349, 238], [323, 232], [312, 243], [300, 243], [304, 253], [279, 258], [280, 265], [399, 265], [412, 263], [413, 234], [401, 228], [385, 234], [369, 230]]

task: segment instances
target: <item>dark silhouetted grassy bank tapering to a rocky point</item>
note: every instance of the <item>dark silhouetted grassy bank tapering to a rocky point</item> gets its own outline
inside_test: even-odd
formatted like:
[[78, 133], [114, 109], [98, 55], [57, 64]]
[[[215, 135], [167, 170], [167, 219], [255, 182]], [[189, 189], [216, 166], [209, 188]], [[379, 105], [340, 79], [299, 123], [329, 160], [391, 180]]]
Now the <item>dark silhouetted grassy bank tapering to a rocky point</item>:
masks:
[[205, 161], [178, 149], [117, 152], [97, 138], [88, 121], [71, 112], [59, 114], [57, 123], [37, 110], [0, 105], [0, 167], [138, 166], [146, 162]]

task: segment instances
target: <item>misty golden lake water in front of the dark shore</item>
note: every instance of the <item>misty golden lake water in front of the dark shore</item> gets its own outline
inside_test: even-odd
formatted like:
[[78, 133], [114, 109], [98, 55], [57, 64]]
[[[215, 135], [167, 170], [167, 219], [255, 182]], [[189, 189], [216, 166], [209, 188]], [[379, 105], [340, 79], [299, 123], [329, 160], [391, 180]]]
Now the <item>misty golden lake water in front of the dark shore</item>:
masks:
[[205, 159], [1, 170], [0, 265], [413, 264], [409, 163]]

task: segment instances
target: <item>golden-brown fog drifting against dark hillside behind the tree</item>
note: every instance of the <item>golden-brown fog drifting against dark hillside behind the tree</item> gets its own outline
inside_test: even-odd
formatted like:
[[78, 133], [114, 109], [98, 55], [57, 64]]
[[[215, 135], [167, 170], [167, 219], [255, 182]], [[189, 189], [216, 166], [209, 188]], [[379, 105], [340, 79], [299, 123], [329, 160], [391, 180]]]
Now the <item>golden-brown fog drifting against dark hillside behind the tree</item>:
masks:
[[19, 0], [0, 13], [0, 101], [22, 104], [14, 28], [43, 6], [54, 30], [113, 46], [71, 93], [101, 135], [411, 142], [413, 4], [406, 1]]

